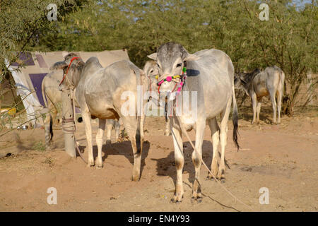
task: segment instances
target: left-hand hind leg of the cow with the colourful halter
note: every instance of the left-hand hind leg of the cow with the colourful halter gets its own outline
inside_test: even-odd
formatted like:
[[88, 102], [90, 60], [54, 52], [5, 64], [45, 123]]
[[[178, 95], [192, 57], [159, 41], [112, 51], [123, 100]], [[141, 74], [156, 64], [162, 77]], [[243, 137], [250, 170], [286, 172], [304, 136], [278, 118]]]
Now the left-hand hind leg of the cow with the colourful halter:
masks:
[[[216, 118], [208, 119], [208, 126], [211, 130], [211, 136], [212, 136], [212, 146], [213, 146], [213, 157], [212, 157], [212, 163], [211, 163], [211, 171], [214, 177], [218, 174], [218, 160], [217, 155], [218, 153], [218, 143], [220, 143], [220, 128], [218, 127], [218, 121], [216, 121]], [[208, 179], [212, 179], [212, 175], [210, 172], [208, 172]]]

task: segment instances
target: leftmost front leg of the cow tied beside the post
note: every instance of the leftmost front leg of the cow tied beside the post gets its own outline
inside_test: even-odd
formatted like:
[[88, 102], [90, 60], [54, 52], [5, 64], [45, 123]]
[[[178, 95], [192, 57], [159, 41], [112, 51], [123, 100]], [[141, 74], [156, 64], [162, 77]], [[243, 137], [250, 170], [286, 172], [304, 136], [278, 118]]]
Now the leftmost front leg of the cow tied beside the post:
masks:
[[90, 112], [88, 112], [88, 109], [82, 109], [82, 118], [86, 133], [86, 140], [87, 140], [87, 149], [88, 149], [88, 163], [87, 166], [91, 167], [95, 165], [94, 163], [94, 157], [93, 157], [93, 142], [92, 142], [92, 126], [90, 124]]

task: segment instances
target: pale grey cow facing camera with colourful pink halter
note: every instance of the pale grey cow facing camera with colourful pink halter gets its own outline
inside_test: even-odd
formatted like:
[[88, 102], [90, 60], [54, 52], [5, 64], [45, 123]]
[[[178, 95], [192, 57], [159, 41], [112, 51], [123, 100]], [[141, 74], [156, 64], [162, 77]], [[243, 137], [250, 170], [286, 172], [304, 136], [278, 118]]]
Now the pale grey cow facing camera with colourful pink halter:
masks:
[[[182, 184], [182, 169], [184, 166], [182, 133], [195, 130], [195, 148], [192, 153], [192, 162], [195, 167], [195, 178], [192, 186], [192, 198], [201, 200], [200, 167], [202, 160], [202, 143], [206, 122], [211, 130], [213, 144], [213, 160], [211, 164], [212, 174], [208, 178], [216, 177], [224, 179], [225, 173], [225, 145], [228, 133], [228, 117], [233, 102], [232, 123], [234, 126], [232, 138], [239, 148], [237, 142], [237, 104], [234, 90], [234, 67], [230, 57], [218, 49], [204, 49], [194, 54], [187, 52], [181, 44], [167, 42], [162, 44], [156, 53], [148, 55], [158, 64], [158, 82], [156, 86], [160, 100], [175, 101], [175, 96], [182, 96], [185, 91], [194, 95], [196, 101], [189, 103], [191, 110], [171, 114], [170, 130], [175, 146], [175, 166], [177, 168], [177, 179], [175, 183], [175, 194], [171, 201], [177, 203], [182, 201], [184, 194]], [[186, 67], [186, 70], [184, 69]], [[187, 74], [184, 74], [187, 73]], [[179, 87], [179, 88], [176, 88]], [[177, 90], [176, 92], [172, 92]], [[189, 101], [190, 102], [190, 101]], [[196, 105], [195, 105], [196, 102]], [[173, 105], [172, 105], [173, 106]], [[192, 113], [196, 108], [196, 117]], [[220, 115], [220, 127], [216, 117]], [[220, 141], [221, 157], [220, 165], [216, 153]]]

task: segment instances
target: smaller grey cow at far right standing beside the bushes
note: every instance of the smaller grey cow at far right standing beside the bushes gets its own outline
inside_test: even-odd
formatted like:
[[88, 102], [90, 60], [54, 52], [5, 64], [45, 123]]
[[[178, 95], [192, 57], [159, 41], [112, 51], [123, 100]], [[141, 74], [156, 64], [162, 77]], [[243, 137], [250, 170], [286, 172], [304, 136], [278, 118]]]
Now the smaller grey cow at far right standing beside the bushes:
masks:
[[271, 97], [273, 123], [276, 123], [276, 109], [278, 112], [277, 123], [281, 123], [281, 102], [283, 99], [284, 81], [285, 73], [278, 66], [268, 66], [264, 71], [254, 69], [250, 73], [241, 72], [235, 75], [235, 88], [241, 88], [252, 99], [252, 124], [259, 122], [261, 99], [267, 95]]

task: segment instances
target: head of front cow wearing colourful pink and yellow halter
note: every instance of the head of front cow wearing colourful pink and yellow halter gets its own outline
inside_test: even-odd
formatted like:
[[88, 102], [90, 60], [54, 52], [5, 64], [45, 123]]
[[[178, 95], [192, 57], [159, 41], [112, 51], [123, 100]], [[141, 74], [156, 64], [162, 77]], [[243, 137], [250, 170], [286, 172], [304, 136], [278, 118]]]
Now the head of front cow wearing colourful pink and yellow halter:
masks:
[[[148, 56], [157, 62], [158, 66], [158, 81], [163, 81], [168, 76], [179, 76], [182, 74], [182, 69], [187, 61], [195, 61], [199, 59], [194, 54], [189, 54], [181, 44], [168, 42], [162, 44], [158, 48], [157, 53]], [[174, 88], [175, 84], [179, 82], [179, 78], [172, 79], [172, 81], [165, 81], [160, 85], [160, 94], [167, 95]]]

